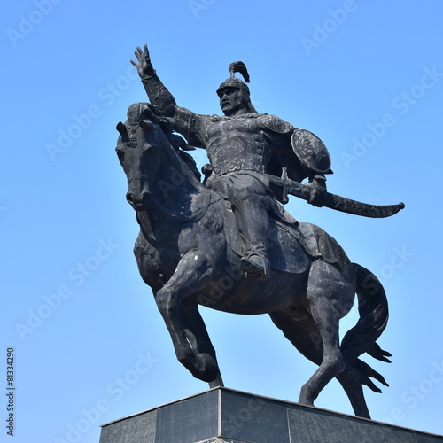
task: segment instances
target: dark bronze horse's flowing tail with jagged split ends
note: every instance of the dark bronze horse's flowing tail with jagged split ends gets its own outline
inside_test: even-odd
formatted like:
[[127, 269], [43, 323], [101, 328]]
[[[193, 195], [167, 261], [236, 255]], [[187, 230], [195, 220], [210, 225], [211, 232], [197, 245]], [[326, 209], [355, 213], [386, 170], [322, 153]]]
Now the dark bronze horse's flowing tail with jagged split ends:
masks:
[[356, 293], [360, 318], [354, 328], [346, 332], [341, 342], [343, 357], [360, 372], [361, 384], [369, 386], [372, 391], [381, 392], [369, 379], [373, 377], [385, 386], [385, 378], [372, 369], [368, 363], [361, 361], [359, 356], [367, 353], [379, 361], [390, 363], [386, 357], [391, 354], [377, 345], [377, 338], [385, 330], [389, 312], [385, 290], [368, 269], [353, 263], [356, 281]]

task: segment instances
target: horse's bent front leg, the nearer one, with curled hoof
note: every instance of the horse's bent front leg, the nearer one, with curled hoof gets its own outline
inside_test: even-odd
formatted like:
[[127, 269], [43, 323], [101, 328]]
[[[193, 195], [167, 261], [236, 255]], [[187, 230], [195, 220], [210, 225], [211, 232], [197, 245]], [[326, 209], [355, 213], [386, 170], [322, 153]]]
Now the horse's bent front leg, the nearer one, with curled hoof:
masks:
[[187, 312], [183, 310], [182, 302], [203, 287], [212, 276], [213, 270], [205, 254], [197, 250], [189, 251], [180, 260], [174, 275], [155, 297], [157, 307], [172, 338], [177, 360], [194, 377], [208, 383], [219, 377], [220, 371], [211, 354], [205, 352], [196, 354], [190, 346], [184, 328], [186, 325], [190, 330], [191, 319], [186, 318], [183, 321]]

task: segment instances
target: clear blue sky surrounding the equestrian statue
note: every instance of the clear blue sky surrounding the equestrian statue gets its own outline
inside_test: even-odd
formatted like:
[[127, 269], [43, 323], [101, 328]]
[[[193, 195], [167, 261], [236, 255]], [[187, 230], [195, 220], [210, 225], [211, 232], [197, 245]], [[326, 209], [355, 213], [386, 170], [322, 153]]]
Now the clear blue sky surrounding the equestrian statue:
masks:
[[[443, 434], [442, 12], [439, 0], [6, 4], [0, 377], [4, 386], [12, 347], [13, 441], [97, 443], [99, 424], [206, 390], [175, 360], [138, 275], [114, 153], [116, 123], [146, 99], [129, 64], [144, 43], [177, 103], [197, 113], [220, 113], [215, 89], [243, 60], [259, 112], [328, 146], [331, 192], [406, 203], [385, 220], [296, 198], [287, 208], [385, 284], [391, 318], [379, 343], [392, 364], [369, 361], [391, 386], [366, 391], [373, 418]], [[298, 399], [315, 366], [267, 316], [202, 313], [228, 387]], [[343, 328], [356, 320], [353, 311]], [[335, 381], [316, 405], [352, 413]]]

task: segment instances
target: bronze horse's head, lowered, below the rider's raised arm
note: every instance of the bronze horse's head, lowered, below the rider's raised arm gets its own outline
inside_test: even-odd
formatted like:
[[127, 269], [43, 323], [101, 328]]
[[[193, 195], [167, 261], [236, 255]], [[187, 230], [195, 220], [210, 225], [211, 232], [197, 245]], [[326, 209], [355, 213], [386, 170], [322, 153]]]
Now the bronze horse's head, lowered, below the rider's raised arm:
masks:
[[159, 128], [152, 105], [136, 103], [128, 108], [128, 120], [117, 125], [120, 133], [115, 152], [128, 177], [128, 203], [136, 210], [146, 209], [159, 169], [161, 147], [168, 144]]

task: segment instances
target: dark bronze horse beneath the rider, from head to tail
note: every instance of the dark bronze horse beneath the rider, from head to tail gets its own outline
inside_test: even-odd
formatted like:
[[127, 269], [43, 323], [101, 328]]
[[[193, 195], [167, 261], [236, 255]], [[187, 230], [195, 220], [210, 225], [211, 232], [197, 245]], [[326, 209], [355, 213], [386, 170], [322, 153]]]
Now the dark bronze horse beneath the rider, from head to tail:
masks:
[[[369, 377], [387, 384], [359, 357], [367, 353], [389, 361], [390, 354], [376, 343], [388, 319], [382, 284], [351, 263], [323, 229], [297, 223], [283, 208], [270, 225], [270, 278], [246, 278], [229, 202], [199, 182], [160, 123], [151, 105], [131, 105], [128, 120], [117, 125], [116, 152], [140, 224], [137, 265], [152, 288], [178, 361], [210, 387], [222, 386], [198, 305], [236, 314], [268, 313], [293, 346], [318, 365], [302, 386], [299, 403], [313, 405], [336, 377], [355, 415], [369, 418], [362, 385], [381, 392]], [[340, 344], [338, 323], [355, 294], [360, 319]]]

